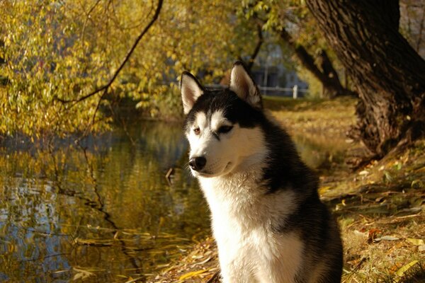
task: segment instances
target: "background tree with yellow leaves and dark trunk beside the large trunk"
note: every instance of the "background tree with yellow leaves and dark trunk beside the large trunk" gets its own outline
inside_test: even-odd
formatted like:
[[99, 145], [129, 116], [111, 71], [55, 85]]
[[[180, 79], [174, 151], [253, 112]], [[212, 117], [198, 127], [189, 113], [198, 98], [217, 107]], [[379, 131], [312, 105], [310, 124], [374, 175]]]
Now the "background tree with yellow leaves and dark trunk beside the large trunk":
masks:
[[309, 74], [307, 78], [314, 77], [319, 81], [322, 96], [356, 96], [341, 83], [333, 52], [319, 35], [316, 23], [302, 1], [247, 1], [242, 5], [242, 11], [251, 20], [260, 22], [275, 41], [287, 47], [288, 53], [299, 63], [298, 71], [305, 70]]

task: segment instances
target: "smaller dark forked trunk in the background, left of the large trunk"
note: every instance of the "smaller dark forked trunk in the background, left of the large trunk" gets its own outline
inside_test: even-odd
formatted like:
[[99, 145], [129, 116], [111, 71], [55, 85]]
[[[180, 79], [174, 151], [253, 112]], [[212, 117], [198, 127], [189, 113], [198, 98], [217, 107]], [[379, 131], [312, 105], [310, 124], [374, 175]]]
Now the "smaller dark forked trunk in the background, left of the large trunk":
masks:
[[349, 91], [341, 85], [338, 74], [336, 74], [332, 63], [324, 50], [319, 53], [319, 68], [314, 63], [314, 58], [312, 55], [310, 55], [302, 45], [297, 45], [293, 37], [288, 33], [288, 31], [285, 30], [285, 28], [280, 30], [278, 33], [280, 38], [285, 41], [293, 50], [295, 56], [298, 60], [300, 60], [302, 66], [310, 71], [316, 77], [316, 79], [322, 83], [324, 96], [327, 98], [334, 98], [335, 96], [355, 95], [352, 91]]

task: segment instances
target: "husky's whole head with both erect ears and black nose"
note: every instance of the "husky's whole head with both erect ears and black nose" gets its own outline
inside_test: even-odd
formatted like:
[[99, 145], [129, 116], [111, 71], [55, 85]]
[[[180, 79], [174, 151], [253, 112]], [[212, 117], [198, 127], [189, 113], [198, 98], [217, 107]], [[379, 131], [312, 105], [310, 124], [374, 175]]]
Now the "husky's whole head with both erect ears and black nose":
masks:
[[229, 88], [210, 91], [190, 73], [181, 75], [189, 167], [196, 177], [216, 177], [261, 162], [266, 155], [259, 89], [240, 62]]

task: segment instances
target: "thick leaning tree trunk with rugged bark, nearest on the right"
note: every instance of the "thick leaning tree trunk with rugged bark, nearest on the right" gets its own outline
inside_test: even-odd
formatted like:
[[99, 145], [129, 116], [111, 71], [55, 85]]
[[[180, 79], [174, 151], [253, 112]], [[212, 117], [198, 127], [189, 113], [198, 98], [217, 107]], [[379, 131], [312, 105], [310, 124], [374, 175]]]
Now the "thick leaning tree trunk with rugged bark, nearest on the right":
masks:
[[306, 2], [361, 98], [364, 144], [383, 156], [407, 134], [424, 134], [425, 61], [398, 31], [398, 1]]

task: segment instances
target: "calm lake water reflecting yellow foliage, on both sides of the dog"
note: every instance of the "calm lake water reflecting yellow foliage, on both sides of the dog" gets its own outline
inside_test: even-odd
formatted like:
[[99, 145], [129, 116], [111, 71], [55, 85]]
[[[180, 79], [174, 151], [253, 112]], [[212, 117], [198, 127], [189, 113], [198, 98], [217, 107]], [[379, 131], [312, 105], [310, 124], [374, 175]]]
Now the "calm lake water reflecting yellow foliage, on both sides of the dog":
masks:
[[[313, 167], [342, 150], [295, 140]], [[1, 148], [0, 281], [143, 281], [164, 269], [210, 233], [187, 150], [181, 125], [163, 122], [79, 146]]]

